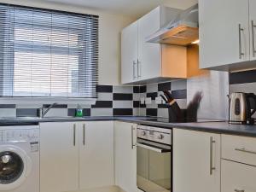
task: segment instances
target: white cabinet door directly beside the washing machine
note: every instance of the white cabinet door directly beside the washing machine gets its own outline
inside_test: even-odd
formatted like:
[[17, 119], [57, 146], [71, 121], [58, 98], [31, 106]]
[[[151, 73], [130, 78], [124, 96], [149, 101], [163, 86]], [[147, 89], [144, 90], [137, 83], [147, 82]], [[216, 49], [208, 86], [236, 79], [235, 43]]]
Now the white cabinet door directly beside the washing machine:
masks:
[[40, 191], [79, 189], [79, 129], [76, 122], [40, 124]]

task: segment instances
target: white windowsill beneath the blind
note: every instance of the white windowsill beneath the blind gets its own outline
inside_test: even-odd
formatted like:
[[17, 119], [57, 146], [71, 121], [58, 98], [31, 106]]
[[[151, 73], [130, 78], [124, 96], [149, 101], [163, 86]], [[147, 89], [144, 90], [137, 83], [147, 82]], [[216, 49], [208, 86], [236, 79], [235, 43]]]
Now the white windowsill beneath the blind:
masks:
[[96, 98], [0, 97], [0, 104], [51, 104], [53, 102], [60, 104], [94, 105]]

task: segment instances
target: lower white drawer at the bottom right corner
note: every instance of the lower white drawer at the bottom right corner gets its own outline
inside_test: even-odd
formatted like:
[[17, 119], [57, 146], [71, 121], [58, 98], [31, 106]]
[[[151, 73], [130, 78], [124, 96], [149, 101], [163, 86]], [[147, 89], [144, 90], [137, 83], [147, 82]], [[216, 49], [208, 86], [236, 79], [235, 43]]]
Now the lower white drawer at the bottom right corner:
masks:
[[[256, 167], [221, 160], [222, 192], [255, 192]], [[231, 176], [231, 177], [230, 177]]]

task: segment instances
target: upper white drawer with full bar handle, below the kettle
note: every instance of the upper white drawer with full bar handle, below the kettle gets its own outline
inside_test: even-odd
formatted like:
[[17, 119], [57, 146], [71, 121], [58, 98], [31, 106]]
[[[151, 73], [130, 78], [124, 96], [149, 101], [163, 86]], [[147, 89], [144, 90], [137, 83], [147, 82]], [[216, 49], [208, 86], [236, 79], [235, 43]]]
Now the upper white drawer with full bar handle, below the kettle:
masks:
[[256, 138], [222, 135], [221, 157], [256, 166]]

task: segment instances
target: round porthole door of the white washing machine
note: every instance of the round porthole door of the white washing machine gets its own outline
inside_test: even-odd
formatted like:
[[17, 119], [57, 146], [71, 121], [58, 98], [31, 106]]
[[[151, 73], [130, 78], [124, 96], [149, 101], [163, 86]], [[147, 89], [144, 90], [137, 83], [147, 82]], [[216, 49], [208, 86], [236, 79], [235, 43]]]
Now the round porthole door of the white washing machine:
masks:
[[0, 146], [0, 191], [18, 188], [31, 172], [32, 161], [16, 146]]

